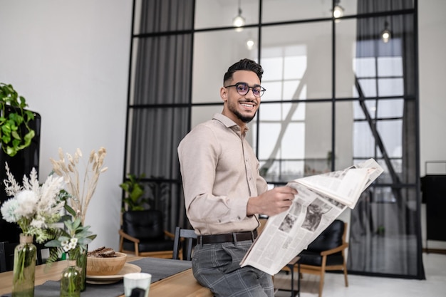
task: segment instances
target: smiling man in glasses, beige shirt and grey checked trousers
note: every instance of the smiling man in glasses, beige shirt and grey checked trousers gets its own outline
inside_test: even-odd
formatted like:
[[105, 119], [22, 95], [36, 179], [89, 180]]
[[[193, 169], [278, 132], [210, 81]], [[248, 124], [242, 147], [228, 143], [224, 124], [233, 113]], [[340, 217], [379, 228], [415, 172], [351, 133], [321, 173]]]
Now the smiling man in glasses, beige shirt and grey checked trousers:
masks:
[[284, 212], [297, 194], [291, 187], [268, 190], [245, 140], [264, 93], [262, 74], [249, 59], [230, 66], [220, 89], [222, 113], [197, 125], [178, 147], [186, 213], [199, 235], [192, 270], [216, 297], [274, 296], [270, 275], [239, 263], [257, 236], [258, 214]]

